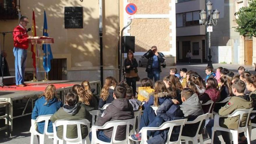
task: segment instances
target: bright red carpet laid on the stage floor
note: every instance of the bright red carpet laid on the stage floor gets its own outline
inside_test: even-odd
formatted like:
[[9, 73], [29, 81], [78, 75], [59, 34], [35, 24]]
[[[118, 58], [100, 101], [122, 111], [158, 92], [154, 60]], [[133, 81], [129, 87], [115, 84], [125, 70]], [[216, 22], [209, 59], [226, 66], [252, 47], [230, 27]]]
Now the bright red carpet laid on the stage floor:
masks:
[[[56, 89], [58, 88], [64, 88], [64, 87], [68, 87], [68, 86], [73, 86], [74, 84], [72, 83], [49, 83], [49, 84], [53, 84]], [[47, 84], [35, 84], [35, 83], [27, 83], [27, 86], [25, 87], [18, 87], [18, 86], [11, 86], [14, 88], [1, 88], [0, 87], [0, 91], [1, 90], [9, 90], [9, 91], [44, 91], [46, 88]], [[15, 88], [16, 87], [16, 88]]]

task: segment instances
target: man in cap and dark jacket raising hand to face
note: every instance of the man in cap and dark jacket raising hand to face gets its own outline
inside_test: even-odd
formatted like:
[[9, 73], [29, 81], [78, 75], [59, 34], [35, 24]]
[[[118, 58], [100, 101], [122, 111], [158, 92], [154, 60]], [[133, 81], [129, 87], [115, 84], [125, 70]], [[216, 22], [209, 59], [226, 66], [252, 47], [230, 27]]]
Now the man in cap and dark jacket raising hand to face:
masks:
[[143, 57], [147, 58], [147, 77], [154, 81], [159, 81], [160, 79], [160, 72], [161, 72], [161, 63], [164, 62], [164, 59], [161, 55], [157, 52], [157, 46], [152, 46], [150, 50], [148, 50]]

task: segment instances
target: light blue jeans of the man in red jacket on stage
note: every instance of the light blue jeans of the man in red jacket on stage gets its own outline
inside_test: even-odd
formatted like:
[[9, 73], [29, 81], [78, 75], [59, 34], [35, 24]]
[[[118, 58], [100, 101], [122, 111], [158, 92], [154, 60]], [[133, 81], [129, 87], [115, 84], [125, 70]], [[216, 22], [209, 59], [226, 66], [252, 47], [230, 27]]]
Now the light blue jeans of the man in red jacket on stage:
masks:
[[25, 68], [26, 68], [26, 61], [27, 61], [27, 50], [14, 47], [13, 54], [15, 56], [16, 85], [20, 85], [24, 83]]

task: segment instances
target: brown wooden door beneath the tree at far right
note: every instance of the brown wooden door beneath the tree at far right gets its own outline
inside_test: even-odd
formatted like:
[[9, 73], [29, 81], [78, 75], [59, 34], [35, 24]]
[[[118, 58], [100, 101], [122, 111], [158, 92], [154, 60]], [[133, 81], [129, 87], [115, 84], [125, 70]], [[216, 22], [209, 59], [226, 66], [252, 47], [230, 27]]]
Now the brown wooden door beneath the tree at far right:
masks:
[[252, 65], [253, 63], [253, 41], [244, 41], [244, 64]]

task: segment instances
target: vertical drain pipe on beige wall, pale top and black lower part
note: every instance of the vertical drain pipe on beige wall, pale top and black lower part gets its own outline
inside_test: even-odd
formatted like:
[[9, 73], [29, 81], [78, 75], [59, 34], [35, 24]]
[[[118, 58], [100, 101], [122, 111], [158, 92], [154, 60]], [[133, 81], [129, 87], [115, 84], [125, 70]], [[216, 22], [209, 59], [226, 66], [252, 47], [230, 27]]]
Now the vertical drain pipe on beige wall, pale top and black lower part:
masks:
[[100, 84], [103, 86], [102, 0], [99, 0]]

